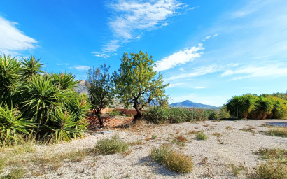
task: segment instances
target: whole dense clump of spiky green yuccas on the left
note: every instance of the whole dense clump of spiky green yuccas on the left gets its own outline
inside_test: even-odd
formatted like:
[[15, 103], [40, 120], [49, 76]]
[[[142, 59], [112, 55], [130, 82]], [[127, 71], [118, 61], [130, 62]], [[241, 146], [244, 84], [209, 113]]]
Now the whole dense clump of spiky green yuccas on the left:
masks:
[[71, 73], [43, 73], [39, 59], [0, 56], [0, 145], [22, 135], [51, 142], [70, 141], [86, 129], [87, 101], [73, 90]]

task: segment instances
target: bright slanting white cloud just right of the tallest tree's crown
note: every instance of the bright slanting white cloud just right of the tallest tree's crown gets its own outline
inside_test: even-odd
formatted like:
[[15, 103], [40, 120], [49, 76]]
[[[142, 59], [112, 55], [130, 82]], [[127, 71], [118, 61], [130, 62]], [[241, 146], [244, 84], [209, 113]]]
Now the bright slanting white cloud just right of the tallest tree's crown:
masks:
[[156, 71], [165, 71], [167, 69], [172, 69], [174, 66], [179, 64], [186, 64], [187, 62], [193, 62], [195, 58], [198, 58], [202, 55], [201, 52], [197, 52], [199, 50], [204, 50], [202, 47], [202, 43], [198, 44], [197, 47], [185, 48], [183, 51], [175, 52], [168, 57], [161, 59], [156, 62]]

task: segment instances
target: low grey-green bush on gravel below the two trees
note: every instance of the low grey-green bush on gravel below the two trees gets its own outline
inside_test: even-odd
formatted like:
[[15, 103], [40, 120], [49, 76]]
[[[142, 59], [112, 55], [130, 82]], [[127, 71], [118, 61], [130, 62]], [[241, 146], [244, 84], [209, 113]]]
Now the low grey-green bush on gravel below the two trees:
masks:
[[128, 147], [129, 145], [120, 140], [119, 136], [115, 134], [111, 138], [99, 140], [95, 148], [102, 155], [110, 155], [125, 152]]

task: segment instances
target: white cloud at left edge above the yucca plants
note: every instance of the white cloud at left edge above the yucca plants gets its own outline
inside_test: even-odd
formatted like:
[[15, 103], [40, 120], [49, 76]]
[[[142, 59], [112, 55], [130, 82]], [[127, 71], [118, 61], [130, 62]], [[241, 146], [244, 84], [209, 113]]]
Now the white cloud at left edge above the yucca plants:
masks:
[[0, 16], [0, 52], [17, 53], [21, 50], [29, 50], [36, 47], [38, 42], [17, 29], [17, 24]]

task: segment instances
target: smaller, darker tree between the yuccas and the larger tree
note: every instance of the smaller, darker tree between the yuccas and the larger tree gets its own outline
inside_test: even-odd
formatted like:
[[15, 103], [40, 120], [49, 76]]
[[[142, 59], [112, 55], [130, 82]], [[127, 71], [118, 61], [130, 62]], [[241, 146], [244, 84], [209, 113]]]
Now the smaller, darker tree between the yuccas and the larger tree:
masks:
[[89, 92], [90, 103], [94, 108], [94, 114], [99, 120], [100, 127], [104, 127], [101, 110], [113, 103], [113, 83], [109, 75], [109, 67], [106, 64], [100, 68], [89, 69], [85, 86]]

